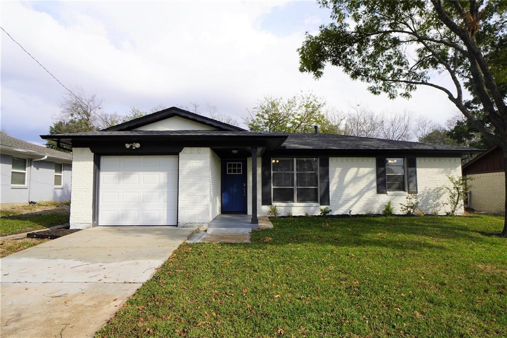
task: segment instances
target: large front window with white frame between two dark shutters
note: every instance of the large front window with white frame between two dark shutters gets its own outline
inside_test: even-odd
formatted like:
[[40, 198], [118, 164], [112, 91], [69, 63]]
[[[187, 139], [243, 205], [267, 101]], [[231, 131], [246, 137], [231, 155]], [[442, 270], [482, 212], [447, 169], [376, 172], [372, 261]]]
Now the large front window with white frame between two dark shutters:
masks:
[[317, 158], [272, 158], [274, 202], [318, 202]]

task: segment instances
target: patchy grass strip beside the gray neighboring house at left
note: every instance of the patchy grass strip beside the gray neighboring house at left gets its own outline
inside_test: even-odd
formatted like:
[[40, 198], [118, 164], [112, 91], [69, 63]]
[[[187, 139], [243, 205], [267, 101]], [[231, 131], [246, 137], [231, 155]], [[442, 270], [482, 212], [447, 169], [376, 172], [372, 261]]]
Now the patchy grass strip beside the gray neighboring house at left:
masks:
[[0, 210], [0, 235], [28, 232], [68, 223], [68, 203], [43, 202]]

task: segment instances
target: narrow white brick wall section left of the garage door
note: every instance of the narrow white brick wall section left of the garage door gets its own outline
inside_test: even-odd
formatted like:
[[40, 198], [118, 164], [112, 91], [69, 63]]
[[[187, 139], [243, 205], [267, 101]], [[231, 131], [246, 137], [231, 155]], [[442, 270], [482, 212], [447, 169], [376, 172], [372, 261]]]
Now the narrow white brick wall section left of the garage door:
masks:
[[93, 153], [90, 148], [74, 148], [72, 154], [70, 228], [85, 229], [92, 226]]

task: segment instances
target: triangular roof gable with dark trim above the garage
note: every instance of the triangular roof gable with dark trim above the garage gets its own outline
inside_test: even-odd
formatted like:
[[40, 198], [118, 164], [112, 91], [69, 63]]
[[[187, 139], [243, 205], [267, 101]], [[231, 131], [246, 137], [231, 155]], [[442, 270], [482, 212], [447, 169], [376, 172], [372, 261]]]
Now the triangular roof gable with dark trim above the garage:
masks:
[[[240, 127], [236, 127], [234, 125], [230, 125], [218, 120], [211, 119], [209, 117], [205, 117], [199, 114], [191, 113], [183, 109], [179, 109], [176, 107], [167, 108], [164, 110], [161, 110], [159, 112], [149, 114], [146, 116], [142, 116], [136, 119], [133, 119], [131, 121], [127, 121], [124, 123], [120, 123], [117, 125], [114, 125], [112, 127], [108, 127], [105, 129], [102, 129], [104, 131], [123, 131], [123, 130], [148, 130], [146, 129], [147, 126], [152, 125], [153, 128], [156, 129], [150, 129], [150, 130], [182, 130], [182, 129], [171, 129], [169, 125], [169, 121], [166, 123], [161, 122], [163, 120], [169, 120], [173, 117], [178, 117], [180, 119], [186, 119], [189, 120], [188, 123], [185, 123], [181, 120], [174, 120], [172, 122], [175, 122], [173, 124], [177, 124], [180, 126], [187, 125], [188, 127], [191, 127], [190, 130], [212, 130], [212, 129], [218, 129], [218, 130], [229, 130], [229, 131], [235, 131], [235, 130], [245, 130]], [[192, 123], [194, 122], [194, 123]], [[199, 128], [196, 123], [203, 125], [202, 129]], [[204, 127], [206, 126], [206, 127]], [[162, 128], [162, 129], [159, 129]]]

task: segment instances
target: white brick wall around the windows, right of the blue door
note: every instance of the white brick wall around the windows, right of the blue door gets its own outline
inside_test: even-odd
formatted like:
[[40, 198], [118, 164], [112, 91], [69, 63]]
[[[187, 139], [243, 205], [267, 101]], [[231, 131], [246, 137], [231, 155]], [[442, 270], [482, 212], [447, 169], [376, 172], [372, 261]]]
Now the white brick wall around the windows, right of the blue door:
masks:
[[[401, 213], [400, 204], [406, 201], [406, 192], [388, 192], [377, 194], [375, 158], [373, 157], [332, 157], [329, 163], [330, 201], [333, 214], [378, 214], [390, 200], [394, 213]], [[251, 213], [251, 158], [248, 167], [248, 213]], [[418, 195], [420, 208], [427, 214], [445, 214], [442, 201], [447, 195], [442, 188], [449, 185], [447, 175], [461, 175], [460, 158], [420, 157], [417, 158]], [[261, 206], [261, 159], [258, 159], [258, 213], [265, 216], [268, 206]], [[319, 213], [317, 204], [275, 204], [280, 215], [290, 212], [293, 215]], [[458, 213], [462, 213], [461, 208]]]

